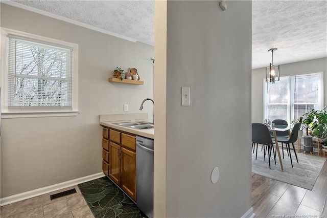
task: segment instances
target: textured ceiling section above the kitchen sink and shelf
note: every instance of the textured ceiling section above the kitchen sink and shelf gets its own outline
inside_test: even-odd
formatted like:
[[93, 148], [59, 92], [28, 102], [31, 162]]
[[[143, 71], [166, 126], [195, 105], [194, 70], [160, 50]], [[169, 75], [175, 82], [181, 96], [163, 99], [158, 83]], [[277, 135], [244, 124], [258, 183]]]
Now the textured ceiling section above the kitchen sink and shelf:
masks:
[[154, 45], [154, 1], [12, 1]]

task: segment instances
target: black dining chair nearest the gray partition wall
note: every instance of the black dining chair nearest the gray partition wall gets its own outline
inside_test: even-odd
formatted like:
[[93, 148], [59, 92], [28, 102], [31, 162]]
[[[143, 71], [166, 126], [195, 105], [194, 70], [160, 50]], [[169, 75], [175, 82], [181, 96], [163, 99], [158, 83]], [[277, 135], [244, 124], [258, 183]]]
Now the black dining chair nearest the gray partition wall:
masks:
[[[274, 160], [276, 164], [276, 154], [275, 150], [273, 149], [273, 142], [270, 137], [269, 129], [268, 127], [263, 123], [252, 123], [252, 148], [256, 144], [256, 152], [255, 152], [255, 160], [258, 156], [258, 144], [266, 145], [266, 148], [264, 147], [264, 160], [266, 160], [266, 153], [268, 151], [268, 160], [269, 160], [269, 169], [270, 169], [270, 156], [271, 156], [271, 150], [274, 154]], [[254, 151], [254, 150], [253, 150]]]

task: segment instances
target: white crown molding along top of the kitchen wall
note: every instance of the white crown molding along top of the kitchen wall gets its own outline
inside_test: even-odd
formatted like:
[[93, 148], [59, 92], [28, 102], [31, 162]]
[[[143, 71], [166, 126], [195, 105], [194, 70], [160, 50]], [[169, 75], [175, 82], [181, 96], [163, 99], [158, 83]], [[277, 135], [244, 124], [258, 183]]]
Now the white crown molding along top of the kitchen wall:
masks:
[[97, 32], [100, 32], [100, 33], [104, 33], [104, 34], [111, 35], [111, 36], [114, 36], [114, 37], [122, 38], [122, 39], [125, 39], [125, 40], [128, 40], [128, 41], [132, 41], [132, 42], [137, 41], [136, 39], [129, 38], [127, 36], [123, 36], [123, 35], [113, 33], [113, 32], [107, 31], [107, 30], [103, 30], [103, 29], [100, 29], [98, 27], [92, 27], [91, 25], [84, 24], [84, 23], [81, 23], [81, 22], [73, 20], [73, 19], [69, 19], [69, 18], [66, 18], [66, 17], [63, 17], [63, 16], [52, 14], [50, 12], [42, 11], [40, 9], [32, 8], [32, 7], [22, 5], [22, 4], [13, 2], [13, 1], [1, 1], [0, 0], [0, 2], [4, 3], [4, 4], [7, 4], [7, 5], [10, 5], [10, 6], [13, 6], [13, 7], [16, 7], [16, 8], [24, 9], [24, 10], [27, 10], [27, 11], [32, 11], [34, 13], [38, 13], [38, 14], [42, 14], [44, 16], [48, 16], [48, 17], [52, 17], [52, 18], [55, 18], [55, 19], [58, 19], [58, 20], [62, 20], [62, 21], [65, 21], [67, 23], [74, 24], [74, 25], [77, 25], [77, 26], [80, 26], [80, 27], [84, 27], [84, 28], [87, 28], [87, 29], [90, 29], [90, 30], [94, 30], [94, 31], [97, 31]]

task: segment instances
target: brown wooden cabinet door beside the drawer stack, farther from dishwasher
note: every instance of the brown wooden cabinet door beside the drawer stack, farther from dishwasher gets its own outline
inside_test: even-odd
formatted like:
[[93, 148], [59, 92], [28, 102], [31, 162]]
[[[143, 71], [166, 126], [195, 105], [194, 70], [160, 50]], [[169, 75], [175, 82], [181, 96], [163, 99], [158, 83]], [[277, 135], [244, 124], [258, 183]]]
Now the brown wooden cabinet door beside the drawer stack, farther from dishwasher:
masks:
[[121, 146], [109, 142], [109, 177], [121, 185]]

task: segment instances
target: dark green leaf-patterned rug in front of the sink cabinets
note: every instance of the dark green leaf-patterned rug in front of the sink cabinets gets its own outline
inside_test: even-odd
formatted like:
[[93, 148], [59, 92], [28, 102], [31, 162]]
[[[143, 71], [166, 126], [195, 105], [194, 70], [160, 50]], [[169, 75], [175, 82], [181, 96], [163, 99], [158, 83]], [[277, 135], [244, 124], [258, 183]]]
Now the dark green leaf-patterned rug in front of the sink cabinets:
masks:
[[96, 218], [141, 218], [146, 215], [107, 177], [78, 185]]

